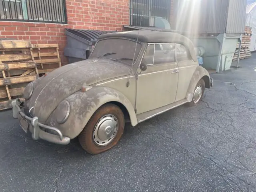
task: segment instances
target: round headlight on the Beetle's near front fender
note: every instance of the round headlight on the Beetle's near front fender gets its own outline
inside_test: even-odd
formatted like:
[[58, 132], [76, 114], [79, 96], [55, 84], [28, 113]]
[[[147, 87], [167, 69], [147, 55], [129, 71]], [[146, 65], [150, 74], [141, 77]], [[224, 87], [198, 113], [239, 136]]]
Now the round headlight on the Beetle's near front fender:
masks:
[[69, 112], [70, 112], [69, 102], [66, 100], [60, 102], [59, 106], [57, 107], [57, 109], [55, 111], [56, 121], [59, 124], [63, 124], [64, 122], [66, 122], [66, 120], [68, 119], [68, 116], [69, 116]]

